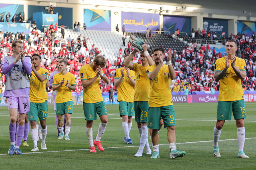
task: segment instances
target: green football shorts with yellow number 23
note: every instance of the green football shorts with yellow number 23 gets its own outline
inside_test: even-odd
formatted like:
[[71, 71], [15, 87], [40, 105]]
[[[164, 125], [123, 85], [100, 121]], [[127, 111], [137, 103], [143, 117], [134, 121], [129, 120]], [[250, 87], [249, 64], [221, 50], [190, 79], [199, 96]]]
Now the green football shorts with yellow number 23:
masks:
[[135, 122], [147, 123], [148, 101], [133, 102]]

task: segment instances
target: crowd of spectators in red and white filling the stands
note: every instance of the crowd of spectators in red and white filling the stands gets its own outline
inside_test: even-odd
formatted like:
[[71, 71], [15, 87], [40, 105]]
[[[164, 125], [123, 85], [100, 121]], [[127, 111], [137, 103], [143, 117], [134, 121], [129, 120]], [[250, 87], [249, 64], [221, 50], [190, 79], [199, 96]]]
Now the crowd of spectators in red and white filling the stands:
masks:
[[[64, 25], [58, 28], [58, 25], [50, 25], [45, 33], [39, 33], [35, 22], [32, 24], [33, 31], [26, 39], [26, 35], [22, 33], [3, 33], [0, 32], [0, 63], [4, 57], [11, 56], [11, 43], [16, 39], [22, 40], [24, 50], [27, 55], [39, 54], [42, 58], [42, 65], [49, 70], [49, 74], [56, 69], [56, 59], [58, 56], [65, 58], [68, 62], [67, 70], [75, 75], [77, 82], [76, 92], [82, 91], [82, 83], [79, 77], [79, 70], [84, 64], [90, 63], [94, 56], [101, 54], [95, 44], [87, 47], [88, 38], [81, 35], [77, 39], [72, 39], [70, 35], [64, 34]], [[76, 30], [77, 31], [77, 30]], [[231, 35], [228, 39], [235, 39], [238, 42], [237, 56], [245, 59], [246, 62], [246, 79], [242, 82], [244, 90], [256, 90], [256, 40], [255, 35], [251, 37], [245, 36], [244, 33]], [[121, 45], [121, 44], [120, 44]], [[174, 92], [179, 91], [217, 91], [219, 90], [219, 82], [214, 80], [214, 63], [218, 58], [223, 57], [221, 53], [217, 53], [215, 48], [211, 50], [209, 44], [201, 45], [199, 49], [197, 44], [189, 43], [184, 48], [182, 54], [178, 55], [173, 50], [173, 65], [176, 71], [176, 80], [172, 80], [171, 88]], [[128, 43], [124, 48], [120, 47], [117, 59], [113, 63], [107, 60], [107, 66], [103, 68], [106, 76], [109, 77], [110, 83], [106, 84], [100, 80], [99, 84], [102, 92], [108, 92], [112, 87], [114, 91], [118, 89], [113, 86], [114, 71], [123, 67], [123, 55], [129, 54], [133, 47]], [[101, 54], [104, 56], [104, 54]], [[165, 62], [167, 59], [167, 51], [164, 52]], [[133, 60], [141, 63], [137, 53]], [[0, 88], [4, 91], [4, 75], [1, 75]], [[50, 89], [47, 89], [51, 91]]]

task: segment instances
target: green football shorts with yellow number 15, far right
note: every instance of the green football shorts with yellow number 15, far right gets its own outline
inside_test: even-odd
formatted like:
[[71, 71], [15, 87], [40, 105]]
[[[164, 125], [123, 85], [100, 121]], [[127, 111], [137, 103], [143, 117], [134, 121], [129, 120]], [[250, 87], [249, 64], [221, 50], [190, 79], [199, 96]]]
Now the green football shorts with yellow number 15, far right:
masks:
[[231, 111], [233, 112], [235, 120], [246, 118], [244, 100], [230, 102], [219, 101], [217, 107], [217, 119], [231, 120]]

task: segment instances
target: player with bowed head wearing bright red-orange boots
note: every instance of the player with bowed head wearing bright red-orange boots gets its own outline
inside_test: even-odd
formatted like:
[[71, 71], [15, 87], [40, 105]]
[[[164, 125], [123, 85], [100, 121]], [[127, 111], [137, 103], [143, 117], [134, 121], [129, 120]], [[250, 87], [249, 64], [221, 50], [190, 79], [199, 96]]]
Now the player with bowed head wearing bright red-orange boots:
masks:
[[[105, 66], [105, 58], [102, 55], [97, 55], [93, 62], [84, 65], [80, 69], [80, 79], [83, 85], [83, 112], [86, 120], [86, 134], [91, 153], [96, 152], [94, 145], [97, 146], [100, 151], [104, 151], [100, 140], [108, 123], [108, 111], [99, 88], [99, 77], [101, 77], [105, 83], [109, 83], [108, 77], [102, 70]], [[93, 142], [93, 120], [97, 119], [97, 114], [101, 119], [101, 123], [99, 124], [97, 137]]]

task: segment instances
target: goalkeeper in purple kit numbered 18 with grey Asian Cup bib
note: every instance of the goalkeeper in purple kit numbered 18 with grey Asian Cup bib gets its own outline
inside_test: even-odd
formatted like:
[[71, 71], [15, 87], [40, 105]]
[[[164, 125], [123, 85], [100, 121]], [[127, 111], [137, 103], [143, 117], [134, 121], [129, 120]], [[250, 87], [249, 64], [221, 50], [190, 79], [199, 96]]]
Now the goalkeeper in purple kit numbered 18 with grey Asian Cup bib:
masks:
[[[5, 57], [2, 63], [2, 72], [6, 78], [4, 97], [7, 98], [10, 114], [9, 135], [11, 146], [8, 151], [9, 155], [14, 153], [22, 154], [19, 147], [24, 134], [25, 113], [29, 112], [30, 109], [30, 82], [27, 75], [30, 75], [32, 72], [31, 60], [28, 57], [24, 57], [26, 51], [23, 50], [23, 42], [21, 40], [12, 42], [12, 51], [13, 55]], [[15, 146], [17, 115], [19, 126]]]

